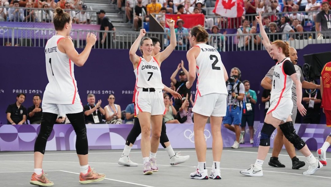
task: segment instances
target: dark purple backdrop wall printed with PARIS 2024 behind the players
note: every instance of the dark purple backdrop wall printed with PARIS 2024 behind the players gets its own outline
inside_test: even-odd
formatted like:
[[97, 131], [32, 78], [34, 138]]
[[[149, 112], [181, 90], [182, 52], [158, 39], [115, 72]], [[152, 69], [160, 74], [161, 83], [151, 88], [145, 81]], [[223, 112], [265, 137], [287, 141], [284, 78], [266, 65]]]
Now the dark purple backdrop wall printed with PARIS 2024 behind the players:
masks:
[[[306, 50], [306, 48], [308, 50]], [[331, 44], [308, 45], [300, 50], [299, 63], [303, 64], [303, 54], [324, 52], [331, 49]], [[78, 49], [79, 52], [82, 49]], [[303, 53], [301, 53], [303, 52]], [[0, 106], [0, 121], [7, 123], [5, 111], [9, 104], [16, 102], [16, 94], [26, 93], [23, 105], [27, 108], [32, 105], [32, 96], [35, 93], [43, 94], [48, 82], [45, 71], [44, 49], [39, 47], [5, 47], [0, 46], [0, 96], [3, 98]], [[8, 55], [5, 55], [8, 54]], [[137, 52], [138, 55], [139, 52]], [[265, 73], [274, 65], [265, 51], [221, 52], [222, 62], [230, 73], [231, 68], [242, 70], [241, 80], [250, 80], [251, 89], [258, 94], [260, 104], [260, 81]], [[162, 64], [162, 78], [166, 85], [170, 85], [170, 76], [180, 60], [184, 60], [188, 67], [185, 51], [174, 51]], [[87, 94], [93, 93], [96, 99], [102, 99], [101, 106], [107, 105], [109, 93], [116, 95], [116, 104], [125, 110], [132, 101], [135, 77], [128, 50], [92, 49], [89, 59], [83, 67], [75, 67], [75, 77], [82, 103], [87, 103]], [[178, 78], [178, 76], [177, 76]], [[195, 84], [192, 88], [195, 95]], [[255, 120], [260, 120], [259, 107], [256, 107]], [[264, 107], [261, 106], [261, 110]], [[324, 114], [322, 114], [324, 116]], [[325, 123], [325, 120], [321, 121]]]

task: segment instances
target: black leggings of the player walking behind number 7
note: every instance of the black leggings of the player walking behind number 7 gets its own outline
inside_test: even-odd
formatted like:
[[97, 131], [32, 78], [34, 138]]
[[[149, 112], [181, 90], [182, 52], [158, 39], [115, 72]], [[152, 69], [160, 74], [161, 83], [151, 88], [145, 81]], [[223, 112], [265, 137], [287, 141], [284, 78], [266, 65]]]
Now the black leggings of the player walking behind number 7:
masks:
[[[134, 142], [136, 141], [136, 139], [140, 133], [141, 133], [141, 127], [140, 127], [139, 119], [138, 119], [138, 117], [135, 117], [133, 127], [126, 138], [126, 145], [129, 146], [130, 143], [134, 144]], [[166, 124], [163, 120], [161, 136], [160, 136], [160, 143], [164, 148], [166, 148], [166, 145], [164, 143], [168, 142], [168, 141], [169, 141], [169, 139], [168, 139], [168, 136], [166, 135]]]

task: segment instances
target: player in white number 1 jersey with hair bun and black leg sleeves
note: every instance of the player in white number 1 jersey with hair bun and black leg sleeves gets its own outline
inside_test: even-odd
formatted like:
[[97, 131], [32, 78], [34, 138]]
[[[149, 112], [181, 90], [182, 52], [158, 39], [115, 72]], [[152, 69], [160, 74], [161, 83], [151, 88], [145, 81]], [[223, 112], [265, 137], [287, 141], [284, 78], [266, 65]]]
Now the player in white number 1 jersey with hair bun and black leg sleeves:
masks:
[[34, 144], [34, 173], [30, 184], [37, 186], [53, 186], [43, 170], [47, 139], [58, 115], [67, 115], [76, 133], [76, 152], [80, 164], [79, 183], [88, 184], [101, 181], [104, 174], [96, 173], [88, 165], [88, 144], [83, 106], [77, 90], [77, 82], [73, 72], [74, 64], [83, 66], [96, 42], [96, 36], [87, 34], [86, 47], [80, 54], [75, 50], [71, 38], [71, 17], [61, 8], [55, 10], [54, 26], [57, 34], [50, 38], [45, 46], [46, 73], [49, 83], [43, 97], [43, 114], [40, 132]]

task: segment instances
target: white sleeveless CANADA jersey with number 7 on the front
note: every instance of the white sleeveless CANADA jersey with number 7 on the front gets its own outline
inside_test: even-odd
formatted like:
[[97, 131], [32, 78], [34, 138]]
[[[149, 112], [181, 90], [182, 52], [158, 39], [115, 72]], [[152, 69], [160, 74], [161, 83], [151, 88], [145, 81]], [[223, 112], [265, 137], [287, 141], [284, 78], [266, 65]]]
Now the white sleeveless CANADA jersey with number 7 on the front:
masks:
[[140, 57], [137, 68], [134, 70], [136, 75], [136, 89], [155, 88], [163, 89], [161, 70], [159, 63], [153, 57], [149, 62]]

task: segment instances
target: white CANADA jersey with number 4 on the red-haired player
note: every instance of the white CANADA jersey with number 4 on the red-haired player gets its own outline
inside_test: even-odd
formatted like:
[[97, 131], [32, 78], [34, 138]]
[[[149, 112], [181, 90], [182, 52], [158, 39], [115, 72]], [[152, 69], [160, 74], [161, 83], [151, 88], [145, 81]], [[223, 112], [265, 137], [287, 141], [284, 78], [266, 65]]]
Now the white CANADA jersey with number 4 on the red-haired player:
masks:
[[275, 70], [272, 76], [272, 89], [270, 101], [274, 102], [278, 98], [288, 97], [292, 98], [292, 84], [291, 77], [285, 74], [283, 70], [283, 64], [285, 61], [290, 61], [290, 58], [285, 58], [282, 62], [276, 64]]

